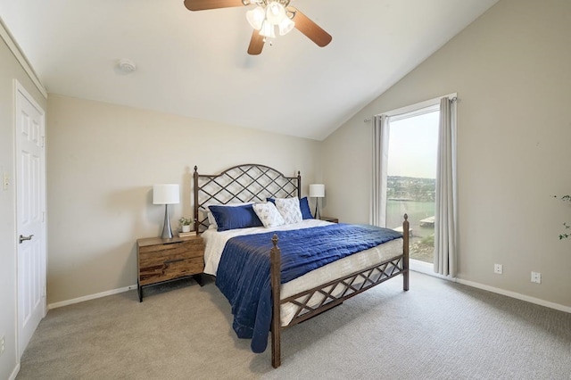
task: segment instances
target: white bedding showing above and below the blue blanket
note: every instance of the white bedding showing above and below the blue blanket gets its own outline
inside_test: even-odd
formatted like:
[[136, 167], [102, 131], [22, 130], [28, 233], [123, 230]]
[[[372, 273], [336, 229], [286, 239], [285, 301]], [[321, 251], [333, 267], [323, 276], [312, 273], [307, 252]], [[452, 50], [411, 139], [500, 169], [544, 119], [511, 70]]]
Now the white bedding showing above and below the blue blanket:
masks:
[[[205, 242], [204, 249], [204, 273], [216, 276], [220, 257], [228, 239], [238, 235], [252, 235], [260, 234], [270, 231], [284, 231], [289, 229], [300, 229], [319, 227], [332, 224], [325, 220], [319, 219], [305, 219], [301, 223], [295, 223], [280, 227], [266, 228], [266, 227], [250, 227], [231, 229], [228, 231], [218, 232], [215, 229], [208, 229], [203, 232], [203, 239]], [[341, 260], [336, 260], [327, 264], [324, 267], [311, 270], [302, 277], [297, 277], [294, 280], [287, 282], [281, 287], [281, 297], [285, 299], [296, 293], [301, 293], [304, 290], [312, 289], [321, 284], [326, 284], [336, 278], [349, 276], [352, 273], [359, 271], [362, 268], [368, 268], [376, 265], [382, 261], [392, 259], [395, 256], [402, 254], [402, 239], [395, 239], [385, 244], [377, 245], [365, 251], [357, 252], [350, 256], [344, 257]], [[333, 292], [334, 295], [340, 295], [343, 289], [339, 287]], [[321, 302], [320, 295], [314, 296], [309, 304], [316, 306]], [[286, 326], [294, 318], [298, 307], [293, 303], [285, 303], [281, 307], [281, 325]]]

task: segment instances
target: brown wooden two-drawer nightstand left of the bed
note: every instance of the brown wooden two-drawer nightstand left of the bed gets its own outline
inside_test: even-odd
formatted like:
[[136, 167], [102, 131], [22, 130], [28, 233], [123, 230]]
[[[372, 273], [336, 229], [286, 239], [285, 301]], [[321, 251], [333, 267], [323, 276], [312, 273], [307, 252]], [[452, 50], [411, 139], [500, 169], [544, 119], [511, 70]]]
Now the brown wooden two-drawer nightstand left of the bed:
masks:
[[143, 288], [167, 281], [194, 277], [203, 285], [204, 243], [201, 236], [172, 239], [137, 239], [137, 291], [143, 302]]

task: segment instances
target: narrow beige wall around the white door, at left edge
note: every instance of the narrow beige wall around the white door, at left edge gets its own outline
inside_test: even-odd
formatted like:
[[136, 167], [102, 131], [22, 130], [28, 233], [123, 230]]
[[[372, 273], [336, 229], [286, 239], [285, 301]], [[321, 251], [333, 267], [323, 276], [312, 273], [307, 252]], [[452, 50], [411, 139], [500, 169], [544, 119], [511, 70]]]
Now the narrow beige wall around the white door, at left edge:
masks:
[[16, 350], [16, 186], [14, 161], [14, 79], [46, 109], [46, 99], [37, 90], [21, 64], [0, 38], [0, 178], [11, 179], [6, 190], [0, 186], [0, 337], [5, 336], [0, 357], [0, 378], [7, 379], [20, 362]]

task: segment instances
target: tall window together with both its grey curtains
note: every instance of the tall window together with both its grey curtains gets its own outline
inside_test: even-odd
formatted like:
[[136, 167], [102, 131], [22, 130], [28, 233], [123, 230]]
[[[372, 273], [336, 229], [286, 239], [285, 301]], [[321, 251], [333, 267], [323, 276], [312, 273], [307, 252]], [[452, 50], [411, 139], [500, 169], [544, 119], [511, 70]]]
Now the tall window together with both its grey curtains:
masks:
[[456, 100], [451, 94], [377, 115], [372, 136], [371, 224], [401, 228], [409, 214], [410, 268], [450, 277], [458, 230]]

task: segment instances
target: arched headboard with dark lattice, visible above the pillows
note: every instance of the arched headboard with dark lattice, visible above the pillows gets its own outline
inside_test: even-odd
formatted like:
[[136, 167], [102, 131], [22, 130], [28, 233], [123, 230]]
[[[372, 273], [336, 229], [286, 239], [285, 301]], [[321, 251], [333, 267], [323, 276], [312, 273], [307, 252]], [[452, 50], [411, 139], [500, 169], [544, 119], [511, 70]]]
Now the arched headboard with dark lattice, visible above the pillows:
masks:
[[302, 176], [285, 177], [276, 169], [259, 164], [244, 164], [220, 174], [198, 174], [194, 166], [194, 229], [208, 228], [206, 208], [211, 204], [266, 202], [268, 197], [302, 197]]

